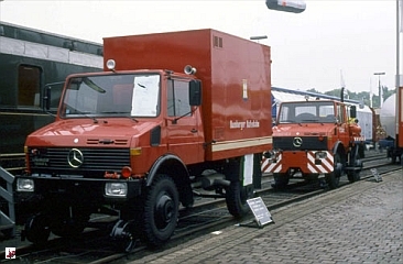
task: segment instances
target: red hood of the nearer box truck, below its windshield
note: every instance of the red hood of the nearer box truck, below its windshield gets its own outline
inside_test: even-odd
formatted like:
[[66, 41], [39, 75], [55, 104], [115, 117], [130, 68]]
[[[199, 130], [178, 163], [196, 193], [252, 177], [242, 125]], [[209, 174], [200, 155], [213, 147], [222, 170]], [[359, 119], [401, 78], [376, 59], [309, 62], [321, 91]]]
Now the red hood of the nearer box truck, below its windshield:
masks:
[[129, 147], [134, 138], [159, 125], [157, 121], [134, 121], [129, 118], [68, 119], [51, 123], [30, 134], [28, 146]]

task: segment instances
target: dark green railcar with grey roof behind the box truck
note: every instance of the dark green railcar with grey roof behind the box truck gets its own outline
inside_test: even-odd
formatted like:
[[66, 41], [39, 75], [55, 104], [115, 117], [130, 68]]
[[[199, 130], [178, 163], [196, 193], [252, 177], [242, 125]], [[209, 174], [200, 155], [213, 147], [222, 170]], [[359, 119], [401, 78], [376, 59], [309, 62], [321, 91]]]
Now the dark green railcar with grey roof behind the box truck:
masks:
[[101, 68], [101, 44], [0, 22], [0, 166], [24, 166], [26, 135], [54, 120], [67, 75]]

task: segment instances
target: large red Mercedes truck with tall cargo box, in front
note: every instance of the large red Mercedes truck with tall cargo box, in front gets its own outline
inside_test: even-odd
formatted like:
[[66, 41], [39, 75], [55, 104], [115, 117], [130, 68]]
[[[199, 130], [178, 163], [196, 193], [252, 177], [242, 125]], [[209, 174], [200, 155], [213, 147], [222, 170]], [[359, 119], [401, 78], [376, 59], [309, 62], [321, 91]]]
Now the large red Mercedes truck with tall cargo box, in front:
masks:
[[206, 29], [106, 37], [104, 58], [67, 77], [55, 122], [26, 139], [24, 237], [77, 235], [101, 212], [129, 251], [166, 242], [196, 196], [247, 213], [272, 144], [270, 47]]

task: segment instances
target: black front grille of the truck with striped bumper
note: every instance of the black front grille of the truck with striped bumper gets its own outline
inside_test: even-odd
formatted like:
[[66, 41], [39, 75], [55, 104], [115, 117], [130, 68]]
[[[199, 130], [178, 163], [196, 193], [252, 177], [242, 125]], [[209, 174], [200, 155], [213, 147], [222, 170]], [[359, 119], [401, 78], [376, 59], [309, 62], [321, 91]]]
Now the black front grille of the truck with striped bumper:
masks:
[[318, 136], [301, 136], [301, 146], [294, 145], [294, 139], [297, 136], [275, 136], [273, 138], [273, 147], [283, 151], [323, 151], [327, 150], [327, 138], [319, 141]]

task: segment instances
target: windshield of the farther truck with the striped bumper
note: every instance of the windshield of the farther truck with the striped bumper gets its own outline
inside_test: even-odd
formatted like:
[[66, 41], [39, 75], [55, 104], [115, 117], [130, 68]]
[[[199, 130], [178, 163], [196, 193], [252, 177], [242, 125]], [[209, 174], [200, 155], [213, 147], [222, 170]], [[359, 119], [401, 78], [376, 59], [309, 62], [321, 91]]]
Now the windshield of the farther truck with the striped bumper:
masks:
[[335, 106], [330, 101], [283, 102], [279, 123], [335, 123]]

